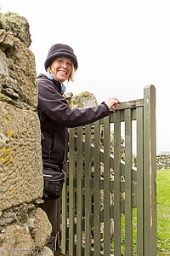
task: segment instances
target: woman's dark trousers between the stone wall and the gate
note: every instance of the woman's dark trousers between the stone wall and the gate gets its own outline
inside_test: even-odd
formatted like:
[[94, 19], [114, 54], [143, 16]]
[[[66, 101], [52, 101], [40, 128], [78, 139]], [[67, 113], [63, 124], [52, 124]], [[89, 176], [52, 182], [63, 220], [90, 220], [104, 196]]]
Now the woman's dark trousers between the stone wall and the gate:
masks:
[[52, 233], [46, 246], [53, 250], [56, 235], [60, 231], [61, 196], [59, 199], [45, 199], [41, 207], [52, 225]]

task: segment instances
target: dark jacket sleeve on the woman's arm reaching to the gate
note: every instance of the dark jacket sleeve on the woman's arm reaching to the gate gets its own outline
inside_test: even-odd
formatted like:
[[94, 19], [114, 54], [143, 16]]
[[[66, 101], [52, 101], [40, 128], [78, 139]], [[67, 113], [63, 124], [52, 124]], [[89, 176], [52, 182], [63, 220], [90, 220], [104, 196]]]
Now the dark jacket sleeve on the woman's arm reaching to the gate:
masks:
[[38, 106], [55, 123], [65, 127], [87, 125], [104, 118], [110, 112], [105, 103], [91, 108], [71, 109], [51, 81], [38, 82]]

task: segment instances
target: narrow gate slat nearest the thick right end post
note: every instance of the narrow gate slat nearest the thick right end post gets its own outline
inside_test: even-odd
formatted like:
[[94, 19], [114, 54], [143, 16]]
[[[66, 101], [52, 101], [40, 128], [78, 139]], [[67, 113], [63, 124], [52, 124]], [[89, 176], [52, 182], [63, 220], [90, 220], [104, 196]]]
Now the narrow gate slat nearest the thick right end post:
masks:
[[137, 116], [137, 253], [144, 255], [144, 111], [136, 109]]

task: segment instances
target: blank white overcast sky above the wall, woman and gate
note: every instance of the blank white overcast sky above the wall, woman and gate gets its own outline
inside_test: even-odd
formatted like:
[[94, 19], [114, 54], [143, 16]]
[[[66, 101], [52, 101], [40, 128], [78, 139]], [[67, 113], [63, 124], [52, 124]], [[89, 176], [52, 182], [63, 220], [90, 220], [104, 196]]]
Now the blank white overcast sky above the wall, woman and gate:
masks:
[[144, 86], [154, 84], [157, 153], [170, 151], [169, 0], [1, 0], [0, 6], [29, 21], [37, 74], [53, 44], [74, 49], [79, 67], [67, 91], [124, 102], [143, 98]]

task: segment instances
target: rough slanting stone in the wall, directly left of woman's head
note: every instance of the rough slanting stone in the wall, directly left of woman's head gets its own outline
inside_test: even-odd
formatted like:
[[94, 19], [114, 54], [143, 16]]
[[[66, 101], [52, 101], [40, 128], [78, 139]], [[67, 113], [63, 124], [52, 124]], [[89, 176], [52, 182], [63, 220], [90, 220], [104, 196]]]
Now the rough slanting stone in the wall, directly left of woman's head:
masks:
[[[37, 108], [37, 73], [35, 56], [18, 38], [7, 50], [8, 73], [19, 88], [20, 101]], [[16, 75], [17, 74], [17, 75]]]

